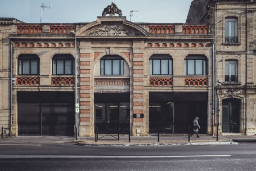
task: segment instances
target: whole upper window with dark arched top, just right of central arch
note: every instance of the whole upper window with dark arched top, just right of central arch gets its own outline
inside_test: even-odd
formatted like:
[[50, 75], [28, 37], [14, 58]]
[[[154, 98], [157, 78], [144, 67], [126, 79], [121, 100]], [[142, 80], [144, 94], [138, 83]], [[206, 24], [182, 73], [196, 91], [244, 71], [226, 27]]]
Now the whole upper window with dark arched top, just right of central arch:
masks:
[[172, 75], [172, 57], [152, 55], [149, 59], [149, 75]]

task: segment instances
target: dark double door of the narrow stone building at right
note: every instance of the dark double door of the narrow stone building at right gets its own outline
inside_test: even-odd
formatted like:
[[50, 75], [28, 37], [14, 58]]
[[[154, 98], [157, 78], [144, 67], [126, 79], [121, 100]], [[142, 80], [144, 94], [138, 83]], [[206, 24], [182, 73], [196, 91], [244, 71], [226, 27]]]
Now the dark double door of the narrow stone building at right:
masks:
[[240, 132], [240, 101], [236, 98], [222, 100], [222, 132]]

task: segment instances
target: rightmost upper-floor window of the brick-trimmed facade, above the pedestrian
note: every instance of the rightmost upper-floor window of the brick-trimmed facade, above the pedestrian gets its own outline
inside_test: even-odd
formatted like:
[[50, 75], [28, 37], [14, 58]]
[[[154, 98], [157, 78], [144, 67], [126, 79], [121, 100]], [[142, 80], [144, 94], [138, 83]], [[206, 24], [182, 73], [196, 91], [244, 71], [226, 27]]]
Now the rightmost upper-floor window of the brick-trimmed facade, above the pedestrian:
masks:
[[203, 55], [188, 55], [184, 63], [185, 75], [207, 75], [207, 58]]

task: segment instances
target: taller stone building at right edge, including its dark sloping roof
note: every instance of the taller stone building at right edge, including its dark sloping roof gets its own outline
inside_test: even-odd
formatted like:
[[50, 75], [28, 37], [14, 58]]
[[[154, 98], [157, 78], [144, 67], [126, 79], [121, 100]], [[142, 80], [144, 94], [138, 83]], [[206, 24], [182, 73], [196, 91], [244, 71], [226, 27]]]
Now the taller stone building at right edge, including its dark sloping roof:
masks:
[[222, 133], [256, 133], [255, 1], [193, 1], [187, 23], [215, 25], [216, 122]]

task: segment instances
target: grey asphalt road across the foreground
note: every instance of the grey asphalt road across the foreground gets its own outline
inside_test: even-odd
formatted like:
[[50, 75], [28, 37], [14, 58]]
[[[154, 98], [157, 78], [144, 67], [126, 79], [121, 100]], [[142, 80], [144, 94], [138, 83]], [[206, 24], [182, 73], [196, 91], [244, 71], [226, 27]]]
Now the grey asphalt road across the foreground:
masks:
[[217, 146], [1, 145], [0, 170], [256, 170], [256, 143]]

